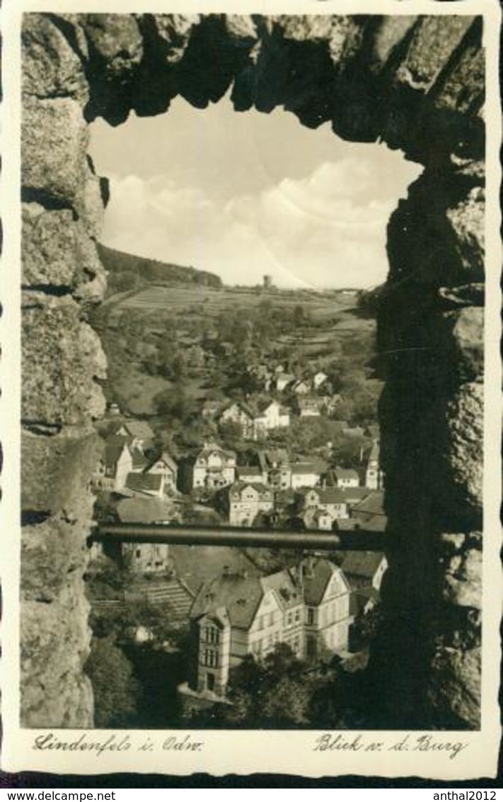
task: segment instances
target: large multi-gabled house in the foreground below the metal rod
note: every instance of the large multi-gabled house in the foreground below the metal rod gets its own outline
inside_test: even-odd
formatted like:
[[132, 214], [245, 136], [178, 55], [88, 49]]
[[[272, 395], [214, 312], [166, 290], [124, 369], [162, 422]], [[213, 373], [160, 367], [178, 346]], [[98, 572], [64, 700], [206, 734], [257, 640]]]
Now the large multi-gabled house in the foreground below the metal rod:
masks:
[[218, 698], [229, 670], [286, 643], [299, 658], [348, 646], [350, 593], [344, 573], [324, 558], [266, 577], [229, 569], [203, 583], [191, 607], [188, 687]]

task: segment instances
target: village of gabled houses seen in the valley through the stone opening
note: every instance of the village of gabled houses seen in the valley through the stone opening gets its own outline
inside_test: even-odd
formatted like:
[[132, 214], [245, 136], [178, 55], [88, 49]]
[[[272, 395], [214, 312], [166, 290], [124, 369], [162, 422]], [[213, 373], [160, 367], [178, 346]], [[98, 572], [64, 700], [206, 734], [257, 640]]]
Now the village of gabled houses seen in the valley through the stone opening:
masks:
[[[258, 400], [251, 394], [203, 399], [198, 419], [213, 434], [176, 457], [159, 446], [166, 438], [147, 421], [111, 404], [92, 480], [97, 519], [383, 532], [378, 427], [334, 418], [344, 399], [332, 392], [323, 371], [301, 377], [264, 371], [258, 378], [264, 388]], [[282, 437], [306, 419], [330, 424], [346, 452], [348, 444], [356, 444], [354, 467], [339, 464], [337, 444], [330, 440], [309, 456], [288, 448]], [[239, 448], [228, 447], [230, 433]], [[386, 568], [383, 553], [350, 551], [328, 558], [124, 543], [119, 551], [94, 545], [91, 576], [99, 576], [105, 554], [129, 578], [120, 599], [91, 598], [95, 614], [119, 614], [147, 601], [162, 610], [164, 631], [188, 634], [187, 677], [177, 689], [185, 697], [186, 715], [202, 703], [226, 699], [231, 669], [247, 655], [264, 658], [278, 644], [315, 664], [327, 655], [348, 658], [352, 629], [378, 606]], [[147, 620], [136, 619], [134, 637], [155, 638]]]

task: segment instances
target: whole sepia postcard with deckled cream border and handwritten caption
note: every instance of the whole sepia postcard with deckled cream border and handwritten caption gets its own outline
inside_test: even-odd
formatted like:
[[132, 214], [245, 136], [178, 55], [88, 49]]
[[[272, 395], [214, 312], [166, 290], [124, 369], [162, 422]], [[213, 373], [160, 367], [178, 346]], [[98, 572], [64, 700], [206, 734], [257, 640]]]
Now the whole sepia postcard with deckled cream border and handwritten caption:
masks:
[[497, 4], [66, 5], [18, 20], [21, 768], [490, 776]]

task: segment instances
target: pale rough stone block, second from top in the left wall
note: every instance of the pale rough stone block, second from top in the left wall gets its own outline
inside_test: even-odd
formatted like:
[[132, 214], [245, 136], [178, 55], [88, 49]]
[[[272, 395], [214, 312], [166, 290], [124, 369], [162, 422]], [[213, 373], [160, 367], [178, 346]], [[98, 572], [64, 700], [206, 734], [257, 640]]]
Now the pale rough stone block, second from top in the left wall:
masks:
[[60, 205], [74, 205], [87, 172], [87, 122], [69, 98], [28, 97], [22, 109], [22, 185]]

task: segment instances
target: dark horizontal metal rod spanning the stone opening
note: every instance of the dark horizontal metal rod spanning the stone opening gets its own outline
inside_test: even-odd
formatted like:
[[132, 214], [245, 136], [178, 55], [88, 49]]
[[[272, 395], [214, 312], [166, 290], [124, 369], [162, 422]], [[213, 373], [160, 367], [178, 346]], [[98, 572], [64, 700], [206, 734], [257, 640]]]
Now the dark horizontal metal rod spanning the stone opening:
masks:
[[240, 546], [325, 551], [384, 551], [391, 535], [368, 529], [348, 532], [292, 532], [290, 529], [184, 526], [171, 524], [100, 524], [91, 542], [167, 543], [170, 545]]

